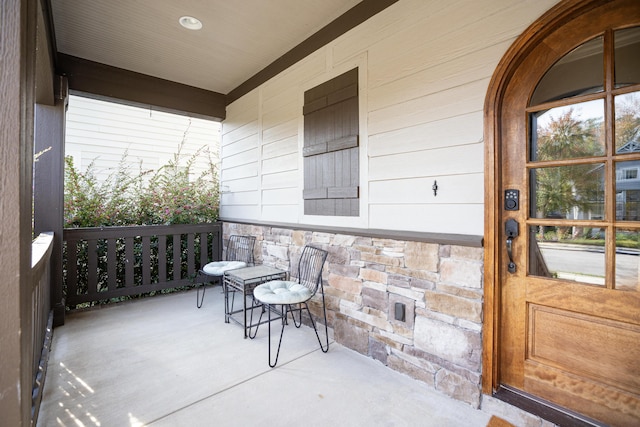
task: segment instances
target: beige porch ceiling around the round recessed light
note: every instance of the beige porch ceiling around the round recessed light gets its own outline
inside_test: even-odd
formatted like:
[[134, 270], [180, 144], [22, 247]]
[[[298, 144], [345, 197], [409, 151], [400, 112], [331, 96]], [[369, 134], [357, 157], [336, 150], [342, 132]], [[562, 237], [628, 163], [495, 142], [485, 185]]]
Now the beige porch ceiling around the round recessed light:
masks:
[[223, 94], [360, 2], [50, 1], [58, 52]]

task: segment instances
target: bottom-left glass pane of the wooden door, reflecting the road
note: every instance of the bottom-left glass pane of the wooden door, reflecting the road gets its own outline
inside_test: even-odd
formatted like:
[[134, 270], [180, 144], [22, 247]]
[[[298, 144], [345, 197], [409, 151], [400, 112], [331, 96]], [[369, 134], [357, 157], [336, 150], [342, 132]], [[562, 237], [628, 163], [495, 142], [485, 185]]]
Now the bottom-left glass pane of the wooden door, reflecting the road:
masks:
[[575, 226], [529, 229], [529, 274], [604, 286], [605, 231]]

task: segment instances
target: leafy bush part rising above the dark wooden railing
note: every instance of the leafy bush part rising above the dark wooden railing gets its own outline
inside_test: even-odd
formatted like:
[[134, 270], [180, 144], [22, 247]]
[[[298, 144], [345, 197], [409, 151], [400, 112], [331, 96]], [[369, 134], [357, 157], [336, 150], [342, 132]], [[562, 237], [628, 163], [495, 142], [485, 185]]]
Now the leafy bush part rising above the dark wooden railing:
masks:
[[[218, 219], [219, 190], [216, 167], [206, 147], [189, 158], [178, 152], [156, 171], [132, 174], [127, 153], [118, 170], [100, 182], [92, 162], [86, 172], [77, 170], [72, 157], [65, 158], [64, 226], [195, 224]], [[207, 156], [209, 168], [195, 178], [192, 168]]]

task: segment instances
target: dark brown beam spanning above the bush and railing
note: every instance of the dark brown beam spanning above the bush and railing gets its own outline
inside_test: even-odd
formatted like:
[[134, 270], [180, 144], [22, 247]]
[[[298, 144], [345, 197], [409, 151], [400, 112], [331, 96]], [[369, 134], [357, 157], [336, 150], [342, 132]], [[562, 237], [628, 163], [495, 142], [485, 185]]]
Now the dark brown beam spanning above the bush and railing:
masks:
[[160, 111], [224, 120], [221, 93], [111, 67], [58, 53], [57, 73], [66, 76], [69, 90], [96, 99], [155, 107]]

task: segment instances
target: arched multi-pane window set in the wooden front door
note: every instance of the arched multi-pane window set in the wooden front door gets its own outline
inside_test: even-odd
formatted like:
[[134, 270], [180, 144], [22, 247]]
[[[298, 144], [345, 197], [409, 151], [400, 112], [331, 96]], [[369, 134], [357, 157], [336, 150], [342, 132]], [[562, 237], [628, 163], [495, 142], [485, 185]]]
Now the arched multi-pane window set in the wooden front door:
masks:
[[[529, 115], [529, 275], [640, 291], [640, 27], [558, 60]], [[535, 221], [534, 221], [535, 222]], [[567, 262], [576, 246], [589, 260]]]

